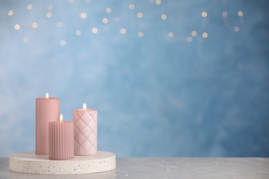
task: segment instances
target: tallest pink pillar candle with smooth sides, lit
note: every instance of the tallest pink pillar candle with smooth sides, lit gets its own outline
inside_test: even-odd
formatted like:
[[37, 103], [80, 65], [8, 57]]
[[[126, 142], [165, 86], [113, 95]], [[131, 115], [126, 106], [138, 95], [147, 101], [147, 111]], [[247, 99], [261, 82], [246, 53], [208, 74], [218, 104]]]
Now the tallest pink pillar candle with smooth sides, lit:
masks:
[[35, 154], [48, 155], [48, 123], [59, 120], [59, 98], [36, 99], [36, 123], [35, 123]]

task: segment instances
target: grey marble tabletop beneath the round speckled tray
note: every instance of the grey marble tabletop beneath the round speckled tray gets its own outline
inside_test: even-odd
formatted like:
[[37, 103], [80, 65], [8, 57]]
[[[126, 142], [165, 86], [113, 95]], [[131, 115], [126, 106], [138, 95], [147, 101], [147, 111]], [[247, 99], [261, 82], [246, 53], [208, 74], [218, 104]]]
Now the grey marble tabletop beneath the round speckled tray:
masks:
[[33, 175], [8, 169], [0, 158], [0, 178], [269, 178], [269, 158], [117, 158], [117, 169], [79, 175]]

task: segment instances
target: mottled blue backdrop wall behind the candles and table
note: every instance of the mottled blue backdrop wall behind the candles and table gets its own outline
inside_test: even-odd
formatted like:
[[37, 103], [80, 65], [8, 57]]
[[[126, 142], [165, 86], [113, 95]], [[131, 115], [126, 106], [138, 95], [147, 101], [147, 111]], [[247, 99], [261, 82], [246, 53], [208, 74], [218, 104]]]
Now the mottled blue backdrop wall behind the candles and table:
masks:
[[117, 156], [269, 156], [268, 5], [0, 1], [0, 156], [34, 151], [46, 92], [64, 120], [97, 109], [99, 149]]

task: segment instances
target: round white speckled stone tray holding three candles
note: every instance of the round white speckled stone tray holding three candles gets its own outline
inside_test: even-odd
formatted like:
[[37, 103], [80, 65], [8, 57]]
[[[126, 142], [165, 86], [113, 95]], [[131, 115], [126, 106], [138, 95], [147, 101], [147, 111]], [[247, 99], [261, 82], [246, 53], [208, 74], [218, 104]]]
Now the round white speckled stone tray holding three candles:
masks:
[[34, 151], [13, 154], [9, 169], [19, 173], [44, 175], [82, 174], [110, 171], [116, 168], [116, 156], [108, 151], [98, 151], [94, 156], [74, 156], [72, 160], [49, 160]]

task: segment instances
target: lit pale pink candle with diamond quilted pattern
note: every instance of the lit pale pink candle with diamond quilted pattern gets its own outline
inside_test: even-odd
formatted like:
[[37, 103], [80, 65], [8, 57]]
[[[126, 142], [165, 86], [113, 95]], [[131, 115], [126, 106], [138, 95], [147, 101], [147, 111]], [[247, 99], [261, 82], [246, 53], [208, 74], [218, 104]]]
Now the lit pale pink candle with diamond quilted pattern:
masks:
[[97, 110], [77, 109], [73, 112], [74, 155], [90, 156], [97, 154]]

